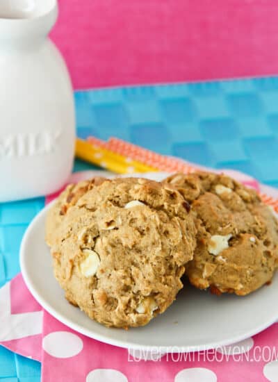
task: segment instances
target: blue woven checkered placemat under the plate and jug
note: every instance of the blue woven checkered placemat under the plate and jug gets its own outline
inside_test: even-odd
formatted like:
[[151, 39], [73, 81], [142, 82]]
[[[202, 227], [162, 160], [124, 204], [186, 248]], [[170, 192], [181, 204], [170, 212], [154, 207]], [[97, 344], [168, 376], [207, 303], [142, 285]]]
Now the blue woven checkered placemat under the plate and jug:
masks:
[[[278, 77], [90, 90], [75, 101], [81, 138], [115, 136], [278, 187]], [[19, 272], [19, 243], [43, 206], [44, 198], [0, 204], [0, 286]], [[38, 382], [40, 364], [0, 347], [3, 381]]]

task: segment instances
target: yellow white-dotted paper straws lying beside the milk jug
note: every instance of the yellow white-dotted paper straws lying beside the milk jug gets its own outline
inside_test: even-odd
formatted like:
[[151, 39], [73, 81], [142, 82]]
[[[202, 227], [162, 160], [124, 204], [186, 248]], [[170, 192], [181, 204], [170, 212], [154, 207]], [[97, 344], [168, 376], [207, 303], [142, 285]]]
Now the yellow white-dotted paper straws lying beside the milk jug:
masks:
[[158, 169], [131, 160], [108, 149], [91, 144], [80, 138], [76, 138], [75, 155], [77, 158], [86, 160], [116, 174], [133, 174], [135, 172], [157, 172]]

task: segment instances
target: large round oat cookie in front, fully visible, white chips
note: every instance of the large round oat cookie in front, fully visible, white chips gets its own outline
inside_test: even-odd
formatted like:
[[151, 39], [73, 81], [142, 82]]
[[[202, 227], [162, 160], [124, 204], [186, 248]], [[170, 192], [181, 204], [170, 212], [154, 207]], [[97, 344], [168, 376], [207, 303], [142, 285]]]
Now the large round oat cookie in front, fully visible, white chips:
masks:
[[66, 298], [90, 318], [145, 325], [182, 288], [195, 235], [190, 206], [171, 185], [106, 180], [67, 209], [51, 246], [54, 273]]

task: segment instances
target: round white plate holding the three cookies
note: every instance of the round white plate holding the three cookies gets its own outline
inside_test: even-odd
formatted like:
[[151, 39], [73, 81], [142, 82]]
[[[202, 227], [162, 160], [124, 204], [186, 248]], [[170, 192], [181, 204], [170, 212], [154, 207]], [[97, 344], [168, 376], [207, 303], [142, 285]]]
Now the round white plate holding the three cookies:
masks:
[[67, 302], [51, 268], [44, 242], [44, 208], [22, 240], [20, 265], [24, 281], [35, 299], [51, 315], [90, 338], [129, 349], [179, 352], [222, 347], [259, 333], [278, 318], [278, 274], [272, 284], [246, 296], [220, 297], [186, 285], [177, 301], [147, 326], [108, 329], [89, 319]]

